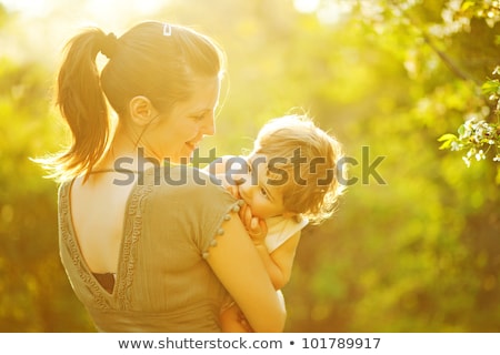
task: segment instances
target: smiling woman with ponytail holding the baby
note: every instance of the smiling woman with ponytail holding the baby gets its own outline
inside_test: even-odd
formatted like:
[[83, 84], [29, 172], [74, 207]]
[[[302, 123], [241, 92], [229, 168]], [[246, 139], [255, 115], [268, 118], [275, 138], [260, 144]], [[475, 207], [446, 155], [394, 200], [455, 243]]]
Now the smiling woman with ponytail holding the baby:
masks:
[[[283, 329], [240, 202], [177, 165], [214, 133], [222, 70], [216, 43], [180, 26], [148, 21], [119, 39], [89, 29], [69, 42], [57, 103], [72, 144], [44, 165], [62, 182], [61, 260], [99, 331], [220, 332], [228, 293], [253, 331]], [[142, 156], [168, 164], [144, 169]]]

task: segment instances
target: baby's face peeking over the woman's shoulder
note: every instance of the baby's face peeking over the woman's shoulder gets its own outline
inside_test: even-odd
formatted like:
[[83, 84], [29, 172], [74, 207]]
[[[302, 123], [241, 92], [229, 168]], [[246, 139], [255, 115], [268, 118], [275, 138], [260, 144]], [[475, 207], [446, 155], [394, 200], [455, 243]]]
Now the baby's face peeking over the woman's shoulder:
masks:
[[240, 196], [250, 206], [254, 216], [269, 219], [286, 213], [282, 186], [270, 184], [268, 164], [263, 159], [250, 156], [248, 174], [241, 178], [244, 182], [239, 185]]

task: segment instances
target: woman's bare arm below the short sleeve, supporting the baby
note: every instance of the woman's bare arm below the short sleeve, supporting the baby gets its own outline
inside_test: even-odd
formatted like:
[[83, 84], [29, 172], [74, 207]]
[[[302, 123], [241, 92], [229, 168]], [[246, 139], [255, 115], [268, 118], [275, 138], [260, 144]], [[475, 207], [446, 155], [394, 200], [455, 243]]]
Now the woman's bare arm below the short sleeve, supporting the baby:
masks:
[[238, 214], [232, 213], [222, 229], [207, 262], [254, 332], [282, 332], [286, 310]]

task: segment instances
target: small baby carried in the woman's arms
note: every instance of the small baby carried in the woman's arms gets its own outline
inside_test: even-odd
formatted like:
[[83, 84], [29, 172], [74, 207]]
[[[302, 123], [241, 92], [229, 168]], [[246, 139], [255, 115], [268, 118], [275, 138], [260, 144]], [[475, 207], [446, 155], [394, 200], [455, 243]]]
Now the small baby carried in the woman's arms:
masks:
[[[340, 143], [312, 119], [286, 115], [262, 126], [250, 154], [226, 155], [207, 168], [244, 201], [240, 217], [278, 291], [290, 280], [301, 230], [334, 212], [344, 189], [341, 156]], [[251, 331], [234, 303], [220, 321], [223, 332]]]

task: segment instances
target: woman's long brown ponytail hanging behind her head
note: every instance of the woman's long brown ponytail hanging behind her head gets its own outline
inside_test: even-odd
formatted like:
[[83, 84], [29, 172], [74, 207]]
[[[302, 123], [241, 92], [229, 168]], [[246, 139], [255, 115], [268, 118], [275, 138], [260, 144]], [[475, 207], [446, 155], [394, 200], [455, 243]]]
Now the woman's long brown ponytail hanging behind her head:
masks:
[[107, 149], [110, 122], [96, 57], [99, 51], [110, 55], [117, 41], [99, 29], [88, 29], [67, 44], [58, 75], [57, 104], [71, 130], [71, 145], [46, 164], [52, 170], [51, 178], [88, 174]]

